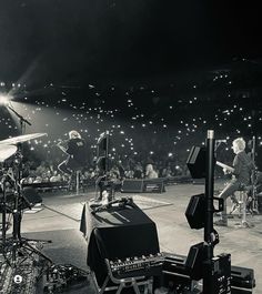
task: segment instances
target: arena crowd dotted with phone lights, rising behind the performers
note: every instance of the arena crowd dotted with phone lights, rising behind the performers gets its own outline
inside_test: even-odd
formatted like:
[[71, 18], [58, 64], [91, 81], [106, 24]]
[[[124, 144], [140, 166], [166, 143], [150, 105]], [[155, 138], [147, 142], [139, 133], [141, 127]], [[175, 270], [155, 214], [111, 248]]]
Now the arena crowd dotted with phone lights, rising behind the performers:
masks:
[[[57, 145], [66, 140], [69, 130], [78, 130], [89, 148], [87, 178], [97, 173], [97, 141], [105, 130], [111, 138], [110, 160], [117, 166], [111, 168], [113, 173], [119, 170], [120, 178], [143, 178], [148, 164], [160, 178], [189, 175], [189, 152], [193, 145], [204, 145], [208, 129], [214, 130], [216, 139], [224, 139], [216, 155], [230, 164], [235, 138], [243, 136], [248, 142], [255, 134], [256, 146], [262, 148], [258, 81], [245, 84], [245, 75], [241, 80], [230, 71], [213, 71], [181, 83], [160, 81], [103, 88], [50, 83], [38, 95], [30, 95], [26, 85], [14, 84], [12, 92], [19, 99], [11, 103], [32, 123], [27, 133], [48, 134], [24, 143], [24, 178], [30, 182], [67, 180], [58, 171], [64, 154]], [[0, 138], [21, 134], [16, 118], [7, 108], [0, 110]], [[47, 171], [41, 171], [43, 165]]]

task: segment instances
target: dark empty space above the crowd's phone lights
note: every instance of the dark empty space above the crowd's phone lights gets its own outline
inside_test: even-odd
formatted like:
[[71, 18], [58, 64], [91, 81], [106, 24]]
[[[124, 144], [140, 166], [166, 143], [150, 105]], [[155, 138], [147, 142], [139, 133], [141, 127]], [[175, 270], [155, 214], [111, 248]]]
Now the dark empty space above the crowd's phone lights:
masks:
[[262, 57], [261, 13], [213, 0], [1, 0], [0, 80], [87, 82]]

